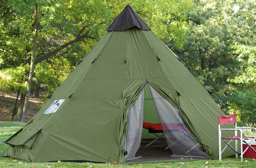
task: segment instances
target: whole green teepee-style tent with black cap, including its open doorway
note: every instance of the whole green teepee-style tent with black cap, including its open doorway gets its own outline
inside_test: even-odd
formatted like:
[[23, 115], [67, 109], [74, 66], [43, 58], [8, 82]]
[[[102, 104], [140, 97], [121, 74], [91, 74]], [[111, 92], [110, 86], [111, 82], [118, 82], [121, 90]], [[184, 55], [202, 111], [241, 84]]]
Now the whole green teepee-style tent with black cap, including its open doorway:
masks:
[[3, 156], [28, 162], [218, 159], [218, 115], [224, 113], [207, 89], [127, 5], [33, 119], [4, 141], [11, 147]]

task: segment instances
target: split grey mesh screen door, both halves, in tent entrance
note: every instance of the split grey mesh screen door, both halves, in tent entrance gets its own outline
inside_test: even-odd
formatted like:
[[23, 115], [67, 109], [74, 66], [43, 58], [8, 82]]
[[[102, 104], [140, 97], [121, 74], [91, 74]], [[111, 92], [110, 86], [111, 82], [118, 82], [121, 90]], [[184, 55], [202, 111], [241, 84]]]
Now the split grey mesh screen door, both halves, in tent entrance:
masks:
[[[148, 92], [150, 92], [152, 96], [150, 99], [152, 98], [154, 102], [151, 103], [153, 105], [150, 105], [150, 107], [144, 107], [144, 87], [136, 102], [126, 111], [128, 124], [127, 136], [125, 138], [123, 148], [128, 154], [124, 156], [125, 161], [136, 158], [135, 154], [140, 148], [140, 142], [142, 139], [143, 118], [161, 123], [165, 139], [173, 153], [172, 157], [187, 156], [208, 158], [208, 154], [200, 150], [200, 144], [192, 137], [187, 127], [184, 125], [179, 109], [164, 99], [148, 83], [147, 85], [149, 87]], [[152, 114], [154, 110], [150, 113], [145, 113], [144, 109], [147, 108], [154, 108], [156, 114]], [[150, 115], [150, 118], [148, 118], [149, 116], [147, 115]], [[152, 119], [152, 117], [154, 117], [154, 119]], [[154, 136], [154, 134], [152, 135]], [[161, 159], [159, 158], [159, 160]]]

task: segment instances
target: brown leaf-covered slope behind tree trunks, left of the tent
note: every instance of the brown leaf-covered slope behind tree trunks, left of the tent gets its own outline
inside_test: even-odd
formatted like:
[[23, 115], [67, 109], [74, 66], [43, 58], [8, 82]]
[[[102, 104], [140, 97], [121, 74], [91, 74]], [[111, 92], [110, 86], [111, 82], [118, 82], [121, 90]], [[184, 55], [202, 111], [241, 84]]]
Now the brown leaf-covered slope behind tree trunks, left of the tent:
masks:
[[[2, 94], [0, 93], [0, 121], [11, 121], [12, 113], [10, 113], [10, 111], [14, 108], [16, 96], [17, 95], [15, 93], [10, 93], [4, 96], [2, 96]], [[43, 96], [41, 95], [41, 97]], [[34, 117], [34, 115], [40, 110], [42, 104], [41, 101], [42, 100], [40, 98], [35, 98], [34, 95], [30, 95], [29, 104], [27, 108], [28, 113], [26, 115], [26, 122], [29, 121], [32, 117]]]

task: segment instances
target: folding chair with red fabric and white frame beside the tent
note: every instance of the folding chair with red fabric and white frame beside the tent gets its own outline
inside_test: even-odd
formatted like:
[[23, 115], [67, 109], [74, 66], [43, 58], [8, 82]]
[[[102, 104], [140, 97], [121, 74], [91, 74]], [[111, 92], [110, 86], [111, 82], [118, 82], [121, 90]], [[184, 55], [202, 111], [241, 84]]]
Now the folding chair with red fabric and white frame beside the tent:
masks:
[[[221, 125], [223, 124], [235, 124], [235, 128], [234, 129], [228, 129], [228, 128], [222, 128], [221, 129]], [[255, 130], [255, 136], [254, 137], [243, 137], [242, 136], [242, 129], [254, 129]], [[234, 137], [221, 137], [221, 131], [222, 130], [234, 130], [235, 131], [235, 136]], [[240, 136], [237, 136], [237, 131], [240, 131]], [[244, 139], [253, 139], [250, 143], [247, 143]], [[251, 144], [253, 143], [253, 141], [255, 141], [256, 138], [256, 128], [249, 128], [249, 127], [237, 127], [237, 115], [229, 115], [229, 116], [219, 116], [219, 160], [221, 160], [221, 154], [223, 153], [223, 151], [225, 151], [225, 149], [227, 148], [227, 146], [229, 146], [234, 152], [236, 152], [236, 158], [239, 156], [238, 153], [238, 147], [237, 147], [237, 140], [241, 141], [241, 161], [243, 161], [243, 154], [246, 152], [246, 150], [250, 147], [254, 152], [255, 149], [251, 146]], [[229, 142], [225, 141], [225, 140], [230, 140]], [[234, 149], [230, 143], [232, 141], [235, 140], [235, 146], [236, 149]], [[227, 145], [225, 146], [225, 148], [223, 148], [221, 150], [221, 141], [225, 142]], [[242, 146], [242, 142], [244, 142], [245, 144], [247, 144], [247, 148], [243, 151], [243, 146]]]

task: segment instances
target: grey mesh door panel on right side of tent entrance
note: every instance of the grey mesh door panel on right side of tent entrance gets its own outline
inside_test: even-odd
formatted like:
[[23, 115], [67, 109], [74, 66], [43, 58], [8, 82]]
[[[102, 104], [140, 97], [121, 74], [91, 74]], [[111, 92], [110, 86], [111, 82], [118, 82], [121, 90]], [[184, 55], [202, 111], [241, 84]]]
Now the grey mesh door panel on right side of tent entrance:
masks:
[[179, 109], [164, 99], [157, 91], [148, 84], [152, 98], [157, 109], [163, 133], [173, 156], [196, 156], [209, 157], [206, 152], [200, 150], [200, 144], [191, 136], [184, 125]]

